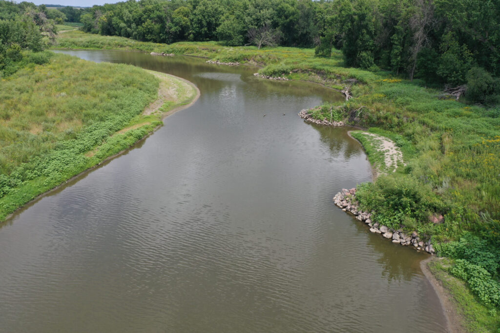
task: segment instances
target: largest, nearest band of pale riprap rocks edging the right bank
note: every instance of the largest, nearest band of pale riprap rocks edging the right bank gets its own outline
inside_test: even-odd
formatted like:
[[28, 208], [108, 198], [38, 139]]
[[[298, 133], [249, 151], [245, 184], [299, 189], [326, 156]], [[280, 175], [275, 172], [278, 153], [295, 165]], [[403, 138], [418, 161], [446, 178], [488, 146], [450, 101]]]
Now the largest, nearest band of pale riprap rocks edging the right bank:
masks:
[[349, 212], [356, 216], [356, 219], [364, 222], [369, 228], [370, 232], [381, 234], [384, 238], [391, 240], [392, 243], [397, 243], [403, 246], [412, 245], [417, 251], [425, 251], [434, 254], [434, 248], [430, 241], [424, 242], [418, 233], [413, 231], [411, 235], [403, 233], [402, 230], [390, 229], [386, 226], [380, 225], [378, 222], [371, 221], [371, 212], [363, 212], [359, 210], [359, 204], [356, 201], [356, 189], [350, 190], [342, 189], [333, 197], [333, 202], [344, 212]]

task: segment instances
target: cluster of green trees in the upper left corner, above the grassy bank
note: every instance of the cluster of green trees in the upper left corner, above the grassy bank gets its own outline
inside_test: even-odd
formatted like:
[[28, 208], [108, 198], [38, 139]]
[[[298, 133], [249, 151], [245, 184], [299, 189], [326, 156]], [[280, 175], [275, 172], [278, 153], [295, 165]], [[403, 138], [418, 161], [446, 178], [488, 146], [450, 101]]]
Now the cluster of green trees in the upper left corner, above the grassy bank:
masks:
[[39, 52], [54, 40], [55, 31], [45, 6], [0, 1], [0, 76], [8, 76], [27, 63], [46, 62], [49, 55]]

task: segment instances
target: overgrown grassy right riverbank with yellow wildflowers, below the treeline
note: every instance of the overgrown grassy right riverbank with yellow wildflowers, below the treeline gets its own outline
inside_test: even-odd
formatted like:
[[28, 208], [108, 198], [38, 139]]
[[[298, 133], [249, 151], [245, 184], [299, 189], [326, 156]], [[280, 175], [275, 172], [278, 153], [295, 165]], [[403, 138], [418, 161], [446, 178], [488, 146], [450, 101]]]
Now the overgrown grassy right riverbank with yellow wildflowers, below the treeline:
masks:
[[[474, 311], [471, 309], [483, 306], [479, 303], [485, 304], [491, 317], [490, 324], [484, 326], [479, 317], [471, 315], [468, 320], [477, 324], [470, 324], [470, 328], [486, 327], [493, 332], [500, 328], [493, 314], [500, 311], [495, 299], [500, 275], [500, 107], [448, 99], [419, 80], [410, 82], [389, 72], [345, 68], [341, 53], [335, 50], [331, 57], [322, 58], [314, 57], [312, 49], [257, 50], [252, 46], [223, 47], [216, 42], [166, 45], [80, 31], [64, 33], [58, 42], [60, 47], [70, 48], [205, 56], [258, 64], [263, 67], [261, 74], [317, 82], [337, 90], [350, 86], [353, 98], [316, 108], [314, 116], [330, 119], [334, 114], [336, 120], [388, 137], [404, 160], [395, 172], [358, 186], [361, 208], [373, 211], [375, 222], [416, 230], [433, 244], [449, 244], [438, 253], [466, 262], [460, 262], [457, 267], [461, 270], [453, 272], [474, 295], [458, 306], [468, 316]], [[370, 161], [386, 167], [377, 149], [370, 150], [376, 145], [366, 136], [359, 138], [366, 141]], [[467, 274], [471, 268], [485, 270], [482, 280]], [[455, 297], [455, 289], [448, 292]]]

